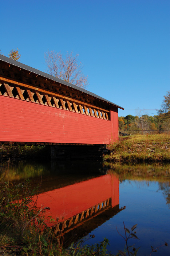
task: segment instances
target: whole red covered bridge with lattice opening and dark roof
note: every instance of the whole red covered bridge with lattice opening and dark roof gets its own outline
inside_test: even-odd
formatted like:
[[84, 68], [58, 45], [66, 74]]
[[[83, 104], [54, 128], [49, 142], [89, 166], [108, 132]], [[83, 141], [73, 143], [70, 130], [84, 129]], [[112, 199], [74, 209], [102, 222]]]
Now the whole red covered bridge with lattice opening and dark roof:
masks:
[[118, 108], [0, 55], [1, 144], [108, 144], [118, 139]]

